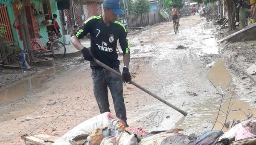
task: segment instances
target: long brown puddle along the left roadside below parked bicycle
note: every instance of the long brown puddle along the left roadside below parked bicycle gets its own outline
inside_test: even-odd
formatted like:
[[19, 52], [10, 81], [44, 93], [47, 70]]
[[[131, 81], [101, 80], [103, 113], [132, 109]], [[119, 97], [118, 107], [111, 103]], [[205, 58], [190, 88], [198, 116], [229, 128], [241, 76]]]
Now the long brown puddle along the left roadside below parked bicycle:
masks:
[[13, 85], [12, 87], [0, 90], [0, 104], [7, 102], [15, 102], [26, 96], [31, 90], [42, 87], [50, 76], [66, 69], [67, 67], [54, 67], [42, 73], [25, 78], [23, 81]]

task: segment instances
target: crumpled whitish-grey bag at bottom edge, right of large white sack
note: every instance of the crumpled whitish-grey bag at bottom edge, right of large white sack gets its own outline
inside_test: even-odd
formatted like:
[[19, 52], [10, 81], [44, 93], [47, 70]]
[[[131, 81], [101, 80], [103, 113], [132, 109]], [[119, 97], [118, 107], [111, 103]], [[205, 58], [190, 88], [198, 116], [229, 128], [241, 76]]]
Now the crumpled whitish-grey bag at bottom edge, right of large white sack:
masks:
[[138, 145], [138, 138], [136, 135], [124, 131], [116, 136], [103, 139], [100, 145]]

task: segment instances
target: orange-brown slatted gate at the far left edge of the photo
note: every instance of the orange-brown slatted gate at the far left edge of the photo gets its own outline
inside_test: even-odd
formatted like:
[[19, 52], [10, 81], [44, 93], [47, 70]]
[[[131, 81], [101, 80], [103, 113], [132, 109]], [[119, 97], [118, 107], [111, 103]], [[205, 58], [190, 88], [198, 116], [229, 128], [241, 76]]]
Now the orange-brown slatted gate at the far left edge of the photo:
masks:
[[10, 22], [7, 6], [3, 4], [0, 4], [0, 23], [6, 25], [7, 33], [3, 35], [3, 40], [13, 42], [12, 24]]

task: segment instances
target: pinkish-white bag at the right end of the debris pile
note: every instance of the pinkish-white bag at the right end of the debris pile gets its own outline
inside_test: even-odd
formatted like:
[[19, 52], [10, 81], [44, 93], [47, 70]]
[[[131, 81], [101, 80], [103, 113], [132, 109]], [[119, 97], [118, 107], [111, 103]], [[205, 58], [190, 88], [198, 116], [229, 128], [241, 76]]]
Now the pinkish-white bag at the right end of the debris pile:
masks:
[[224, 133], [220, 139], [235, 136], [236, 140], [245, 139], [256, 135], [256, 120], [247, 120], [239, 123]]

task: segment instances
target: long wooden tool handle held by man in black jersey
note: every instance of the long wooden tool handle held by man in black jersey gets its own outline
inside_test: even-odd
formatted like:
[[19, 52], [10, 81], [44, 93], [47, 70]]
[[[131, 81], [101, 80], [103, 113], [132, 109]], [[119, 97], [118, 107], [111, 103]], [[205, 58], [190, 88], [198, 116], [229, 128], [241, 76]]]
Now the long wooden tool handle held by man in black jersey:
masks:
[[[113, 74], [119, 76], [122, 78], [122, 75], [118, 73], [116, 70], [113, 70], [111, 67], [108, 67], [106, 64], [103, 64], [102, 62], [98, 61], [97, 59], [94, 58], [94, 61], [96, 64], [99, 64], [100, 66], [104, 67], [105, 69], [111, 71]], [[148, 93], [149, 95], [153, 96], [155, 99], [163, 102], [164, 104], [168, 105], [169, 107], [172, 107], [174, 110], [178, 111], [181, 113], [183, 116], [187, 116], [187, 112], [180, 110], [179, 108], [175, 107], [173, 104], [167, 102], [166, 100], [160, 98], [159, 96], [155, 95], [154, 93], [151, 93], [149, 90], [146, 90], [145, 88], [141, 87], [139, 84], [135, 83], [134, 81], [129, 81], [131, 84], [134, 86], [138, 87], [140, 90], [143, 90], [145, 93]]]

